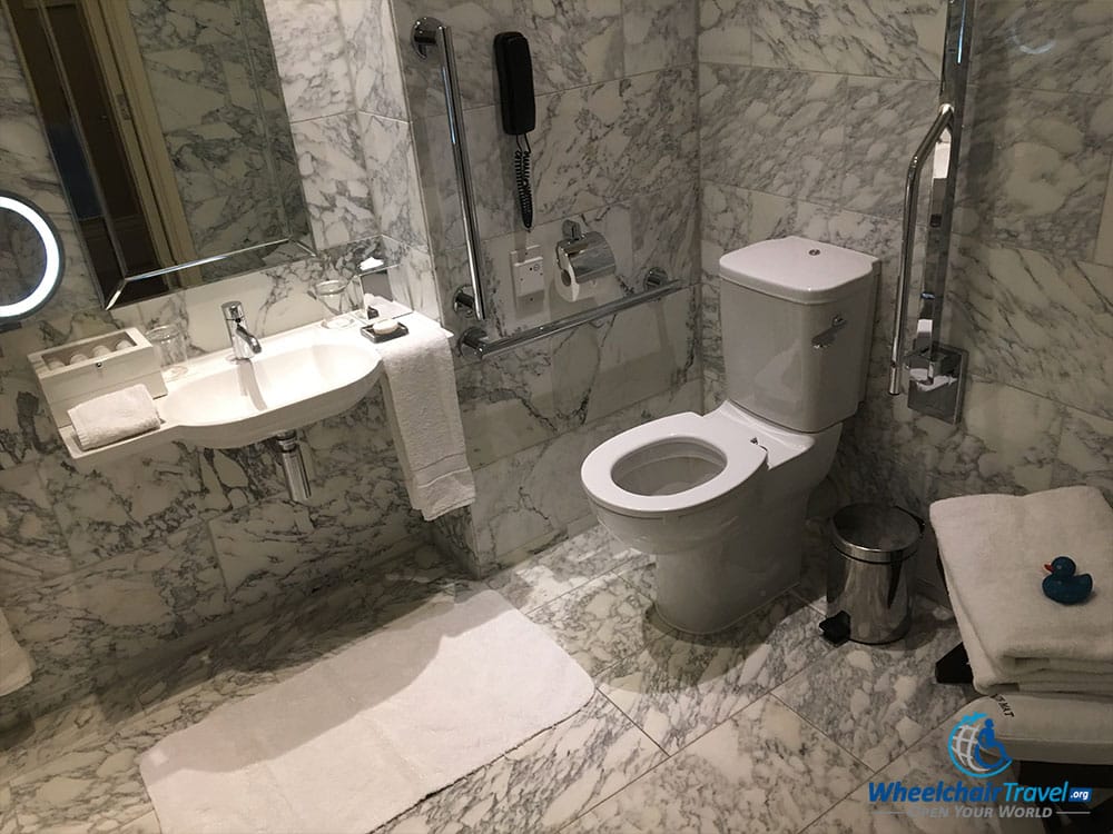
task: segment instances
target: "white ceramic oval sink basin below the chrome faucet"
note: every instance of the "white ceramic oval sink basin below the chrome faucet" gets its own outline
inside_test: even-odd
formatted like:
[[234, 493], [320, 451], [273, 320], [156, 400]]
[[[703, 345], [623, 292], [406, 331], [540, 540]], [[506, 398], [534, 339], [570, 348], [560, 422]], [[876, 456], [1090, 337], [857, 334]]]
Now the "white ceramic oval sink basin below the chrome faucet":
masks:
[[210, 354], [167, 383], [159, 414], [181, 439], [216, 449], [257, 443], [351, 408], [378, 378], [378, 354], [356, 327], [311, 325], [260, 341], [252, 359]]

